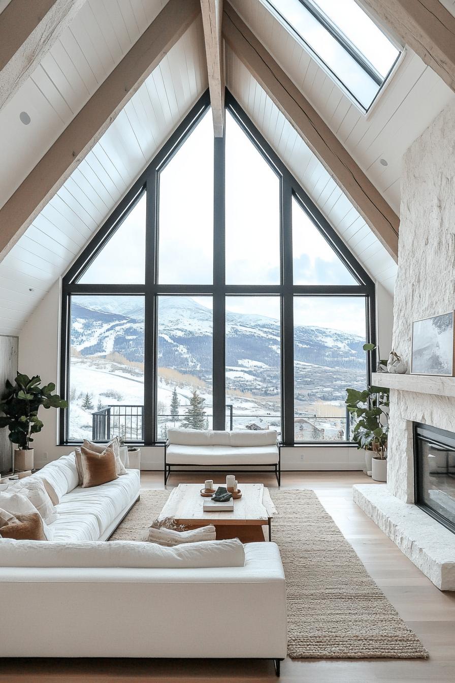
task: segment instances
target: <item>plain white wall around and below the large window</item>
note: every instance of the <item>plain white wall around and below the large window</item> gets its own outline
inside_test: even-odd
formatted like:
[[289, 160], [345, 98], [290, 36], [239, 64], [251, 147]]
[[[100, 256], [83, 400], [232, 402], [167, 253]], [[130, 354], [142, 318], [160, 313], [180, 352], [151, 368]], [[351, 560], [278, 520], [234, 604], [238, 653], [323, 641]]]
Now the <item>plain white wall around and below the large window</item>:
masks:
[[[377, 317], [380, 348], [390, 350], [392, 335], [392, 298], [377, 287]], [[57, 282], [35, 309], [19, 335], [19, 370], [39, 374], [44, 382], [55, 382], [59, 391], [60, 283]], [[70, 453], [71, 447], [58, 444], [58, 411], [42, 408], [44, 428], [36, 434], [35, 464], [42, 466]], [[162, 447], [141, 449], [142, 469], [162, 469]], [[282, 469], [288, 470], [356, 470], [363, 469], [364, 455], [353, 447], [317, 446], [282, 449]]]

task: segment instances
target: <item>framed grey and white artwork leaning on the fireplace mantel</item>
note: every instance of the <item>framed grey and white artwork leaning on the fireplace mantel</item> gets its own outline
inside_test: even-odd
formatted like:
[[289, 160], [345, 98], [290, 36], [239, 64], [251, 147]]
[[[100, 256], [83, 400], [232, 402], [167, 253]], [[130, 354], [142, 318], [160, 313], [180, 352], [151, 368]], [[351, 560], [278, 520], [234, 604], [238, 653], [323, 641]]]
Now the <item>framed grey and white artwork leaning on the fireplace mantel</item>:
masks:
[[411, 373], [454, 375], [454, 311], [413, 322]]

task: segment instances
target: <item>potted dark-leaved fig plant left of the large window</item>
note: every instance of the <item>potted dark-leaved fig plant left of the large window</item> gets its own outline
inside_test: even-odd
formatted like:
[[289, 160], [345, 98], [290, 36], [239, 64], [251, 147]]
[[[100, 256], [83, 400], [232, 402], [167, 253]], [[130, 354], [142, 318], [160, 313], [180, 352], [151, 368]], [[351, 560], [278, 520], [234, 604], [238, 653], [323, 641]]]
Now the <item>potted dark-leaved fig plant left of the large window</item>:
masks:
[[9, 438], [16, 443], [14, 450], [14, 469], [26, 471], [33, 469], [33, 434], [38, 434], [43, 423], [38, 410], [44, 408], [66, 408], [68, 403], [53, 393], [55, 384], [41, 386], [38, 375], [28, 377], [18, 372], [14, 384], [5, 382], [5, 392], [0, 400], [0, 427], [8, 427]]

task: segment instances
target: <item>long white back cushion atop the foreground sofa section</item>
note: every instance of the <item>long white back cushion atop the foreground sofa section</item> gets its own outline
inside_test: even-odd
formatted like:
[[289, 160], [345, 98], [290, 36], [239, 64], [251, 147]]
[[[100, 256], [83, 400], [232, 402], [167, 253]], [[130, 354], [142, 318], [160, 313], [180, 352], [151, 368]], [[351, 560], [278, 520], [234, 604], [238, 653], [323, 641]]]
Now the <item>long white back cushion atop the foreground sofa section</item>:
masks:
[[174, 548], [163, 548], [155, 543], [138, 541], [56, 541], [51, 544], [40, 541], [14, 541], [7, 538], [1, 541], [2, 567], [198, 569], [244, 565], [244, 545], [238, 538], [184, 543]]

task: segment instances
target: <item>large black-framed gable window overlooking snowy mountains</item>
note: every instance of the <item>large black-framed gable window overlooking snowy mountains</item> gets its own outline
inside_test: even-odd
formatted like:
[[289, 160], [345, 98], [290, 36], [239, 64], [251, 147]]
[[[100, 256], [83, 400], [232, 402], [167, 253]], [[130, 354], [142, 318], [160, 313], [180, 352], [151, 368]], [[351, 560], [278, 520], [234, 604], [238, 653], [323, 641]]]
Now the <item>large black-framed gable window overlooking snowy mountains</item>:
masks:
[[208, 95], [63, 279], [62, 442], [349, 441], [374, 284], [232, 96]]

